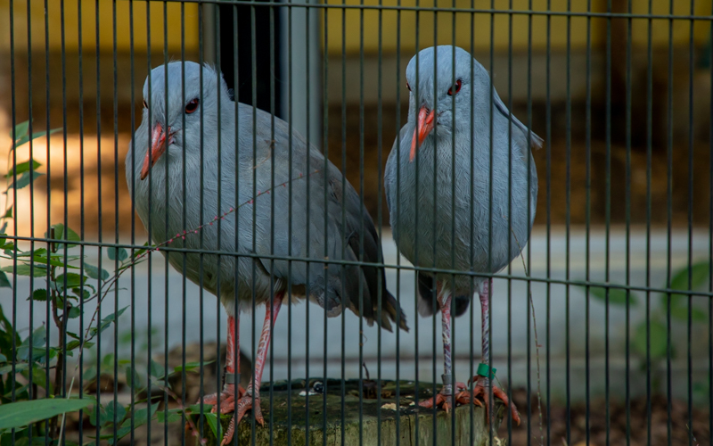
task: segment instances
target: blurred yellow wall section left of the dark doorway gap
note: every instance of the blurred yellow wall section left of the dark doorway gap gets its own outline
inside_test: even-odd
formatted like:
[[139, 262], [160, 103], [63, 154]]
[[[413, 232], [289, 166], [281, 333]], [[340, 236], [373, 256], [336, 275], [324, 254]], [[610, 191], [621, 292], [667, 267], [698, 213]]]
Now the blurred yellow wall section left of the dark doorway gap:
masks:
[[[45, 48], [45, 2], [42, 0], [0, 0], [0, 49], [10, 49], [10, 11], [12, 2], [12, 19], [14, 29], [14, 47], [16, 51], [26, 52], [28, 48], [28, 25], [31, 32], [31, 46], [33, 50]], [[81, 29], [82, 49], [94, 52], [96, 49], [96, 23], [99, 19], [99, 51], [111, 53], [114, 45], [113, 19], [114, 2], [99, 0], [99, 12], [96, 12], [94, 1], [65, 0], [64, 2], [64, 39], [65, 49], [76, 53], [79, 46], [79, 11], [81, 3]], [[29, 4], [29, 14], [28, 14]], [[129, 8], [133, 4], [133, 14]], [[151, 45], [154, 51], [164, 47], [164, 3], [153, 2], [150, 4], [149, 27], [146, 23], [146, 2], [119, 1], [116, 2], [118, 52], [128, 52], [131, 45], [130, 17], [134, 18], [134, 49], [145, 52], [148, 45], [148, 33], [151, 32]], [[61, 25], [62, 9], [60, 0], [47, 0], [47, 28], [49, 39], [47, 45], [51, 51], [61, 50]], [[29, 18], [28, 18], [29, 15]], [[181, 4], [168, 2], [166, 8], [165, 27], [168, 34], [168, 51], [179, 52], [181, 49]], [[184, 4], [184, 41], [186, 51], [195, 51], [198, 48], [198, 5]]]

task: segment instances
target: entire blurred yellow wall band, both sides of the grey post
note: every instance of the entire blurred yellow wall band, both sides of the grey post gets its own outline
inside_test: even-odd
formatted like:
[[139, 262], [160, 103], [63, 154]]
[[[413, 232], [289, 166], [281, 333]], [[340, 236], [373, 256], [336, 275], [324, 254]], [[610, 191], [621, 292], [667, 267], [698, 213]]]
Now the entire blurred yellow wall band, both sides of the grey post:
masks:
[[[399, 0], [344, 0], [348, 5], [358, 5], [363, 2], [367, 6], [396, 6]], [[471, 47], [471, 39], [476, 50], [488, 50], [491, 43], [491, 14], [490, 0], [400, 0], [402, 6], [414, 7], [416, 2], [425, 8], [434, 6], [454, 7], [459, 9], [471, 8], [475, 5], [475, 13], [471, 12], [419, 12], [418, 16], [414, 11], [397, 12], [386, 10], [381, 12], [381, 45], [386, 54], [397, 51], [400, 45], [402, 51], [413, 52], [418, 46], [425, 47], [438, 42], [441, 45], [451, 44], [455, 36], [455, 44], [466, 48]], [[532, 10], [535, 12], [546, 12], [548, 0], [494, 0], [493, 9], [507, 10], [512, 1], [512, 10], [524, 11], [529, 9], [532, 3]], [[671, 0], [673, 2], [673, 12], [675, 15], [688, 15], [691, 13], [693, 0]], [[698, 0], [695, 2], [695, 15], [709, 16], [711, 14], [711, 2], [713, 0]], [[28, 24], [32, 34], [32, 47], [41, 50], [45, 47], [45, 10], [44, 2], [41, 0], [0, 0], [0, 17], [9, 21], [10, 4], [13, 6], [13, 27], [15, 30], [15, 48], [18, 51], [25, 51], [28, 47], [27, 35]], [[550, 0], [553, 12], [566, 12], [568, 0]], [[613, 0], [621, 2], [621, 11], [625, 12], [627, 2], [625, 0]], [[28, 3], [29, 20], [28, 20]], [[49, 47], [51, 50], [61, 49], [61, 3], [60, 0], [48, 0], [47, 19], [49, 28]], [[82, 22], [82, 46], [85, 51], [94, 51], [96, 46], [96, 10], [94, 1], [81, 1], [81, 22]], [[326, 4], [342, 4], [342, 0], [324, 0]], [[586, 0], [570, 1], [572, 12], [586, 12]], [[649, 0], [632, 0], [634, 13], [648, 13]], [[100, 52], [109, 53], [113, 45], [113, 2], [109, 0], [99, 0], [99, 46]], [[134, 48], [135, 51], [143, 52], [147, 47], [147, 24], [146, 9], [147, 3], [143, 1], [119, 1], [116, 2], [117, 39], [116, 45], [119, 52], [127, 52], [130, 47], [130, 16], [129, 8], [133, 4], [134, 17]], [[605, 12], [607, 0], [592, 0], [593, 12]], [[666, 15], [669, 13], [670, 3], [665, 0], [652, 1], [652, 13]], [[168, 2], [166, 11], [166, 22], [168, 27], [168, 51], [176, 53], [181, 48], [181, 4]], [[184, 42], [186, 51], [196, 51], [198, 47], [198, 5], [193, 3], [184, 4]], [[323, 36], [326, 35], [326, 47], [330, 54], [340, 54], [342, 45], [348, 54], [358, 54], [361, 45], [360, 29], [364, 27], [363, 41], [367, 54], [375, 54], [379, 48], [379, 16], [376, 10], [329, 8], [326, 10], [326, 21], [324, 21], [324, 11], [319, 12], [323, 19]], [[363, 24], [360, 17], [363, 14]], [[438, 17], [434, 20], [434, 15]], [[151, 45], [154, 50], [162, 50], [164, 45], [164, 3], [152, 2], [150, 4], [150, 30]], [[534, 50], [544, 50], [547, 43], [547, 16], [545, 15], [525, 15], [496, 13], [492, 23], [493, 37], [492, 43], [496, 51], [503, 51], [508, 48], [512, 39], [514, 51], [527, 50], [529, 45], [529, 22], [532, 23], [531, 42]], [[400, 20], [400, 26], [398, 21]], [[509, 25], [512, 20], [511, 27]], [[471, 34], [471, 21], [473, 23]], [[64, 37], [67, 51], [76, 51], [78, 48], [78, 2], [67, 0], [64, 2]], [[345, 37], [342, 39], [342, 23], [346, 23]], [[418, 32], [415, 31], [418, 23]], [[0, 26], [0, 49], [10, 48], [9, 22]], [[568, 39], [568, 18], [564, 15], [554, 15], [550, 19], [551, 43], [553, 50], [566, 48]], [[606, 39], [607, 20], [602, 18], [591, 19], [592, 44], [594, 47], [600, 46]], [[652, 41], [653, 45], [668, 45], [668, 30], [670, 21], [652, 21]], [[632, 36], [634, 45], [646, 45], [648, 42], [647, 19], [632, 20]], [[677, 20], [673, 27], [673, 44], [681, 45], [688, 42], [691, 21]], [[710, 21], [695, 21], [694, 36], [697, 44], [705, 41], [709, 36]], [[438, 29], [438, 32], [434, 32]], [[454, 31], [455, 30], [455, 31]], [[434, 39], [434, 34], [435, 38]], [[397, 37], [400, 37], [400, 44], [397, 44]], [[570, 42], [574, 50], [582, 49], [586, 46], [587, 19], [585, 17], [572, 17], [570, 20]], [[614, 43], [616, 45], [616, 42]]]

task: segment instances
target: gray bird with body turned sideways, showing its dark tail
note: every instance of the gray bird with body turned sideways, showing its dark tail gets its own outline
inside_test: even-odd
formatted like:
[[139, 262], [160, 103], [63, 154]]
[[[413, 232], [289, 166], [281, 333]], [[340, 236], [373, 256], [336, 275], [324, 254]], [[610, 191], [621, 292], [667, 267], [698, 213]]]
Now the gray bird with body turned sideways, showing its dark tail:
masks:
[[[368, 263], [380, 261], [379, 236], [354, 188], [342, 187], [340, 170], [325, 165], [322, 153], [290, 133], [285, 121], [244, 103], [237, 103], [236, 116], [221, 74], [195, 62], [153, 69], [143, 99], [143, 119], [126, 161], [143, 225], [155, 243], [173, 238], [169, 247], [227, 254], [162, 252], [176, 270], [219, 295], [228, 314], [224, 390], [202, 400], [214, 411], [219, 401], [220, 413], [235, 412], [226, 443], [248, 409], [264, 423], [260, 380], [285, 296], [308, 296], [332, 317], [348, 308], [369, 325], [380, 314], [381, 301], [378, 322], [389, 331], [391, 321], [407, 330], [406, 317], [387, 291], [383, 268], [335, 262], [354, 262], [360, 255]], [[225, 219], [215, 219], [225, 213]], [[317, 261], [289, 262], [288, 256]], [[266, 305], [266, 318], [255, 373], [243, 390], [235, 386], [240, 382], [236, 318], [253, 300]]]

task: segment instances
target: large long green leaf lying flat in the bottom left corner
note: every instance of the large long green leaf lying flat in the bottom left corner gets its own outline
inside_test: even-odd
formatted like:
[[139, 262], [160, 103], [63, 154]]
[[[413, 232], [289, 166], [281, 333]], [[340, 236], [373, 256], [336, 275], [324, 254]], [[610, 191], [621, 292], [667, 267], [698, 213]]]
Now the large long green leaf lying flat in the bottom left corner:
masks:
[[75, 412], [91, 403], [92, 400], [89, 399], [65, 400], [63, 398], [4, 403], [0, 406], [0, 429], [29, 425], [64, 412]]

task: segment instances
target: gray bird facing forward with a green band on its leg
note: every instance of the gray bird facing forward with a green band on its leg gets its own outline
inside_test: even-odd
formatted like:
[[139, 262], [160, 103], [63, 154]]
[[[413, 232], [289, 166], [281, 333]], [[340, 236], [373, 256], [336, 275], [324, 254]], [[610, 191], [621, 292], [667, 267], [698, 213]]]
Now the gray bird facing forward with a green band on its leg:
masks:
[[[415, 267], [496, 273], [528, 242], [537, 202], [530, 146], [541, 146], [542, 139], [510, 115], [495, 89], [491, 101], [488, 71], [462, 48], [422, 50], [408, 63], [406, 80], [408, 123], [389, 153], [384, 177], [398, 250]], [[445, 356], [444, 386], [422, 406], [448, 410], [455, 403], [480, 404], [476, 397], [482, 395], [488, 409], [490, 280], [472, 274], [417, 274], [418, 311], [422, 316], [441, 311]], [[479, 293], [482, 310], [482, 363], [473, 378], [474, 390], [467, 392], [456, 383], [455, 394], [451, 311], [462, 315], [473, 293]], [[501, 389], [494, 385], [493, 392], [508, 404]], [[513, 404], [510, 408], [520, 423], [517, 409]]]

